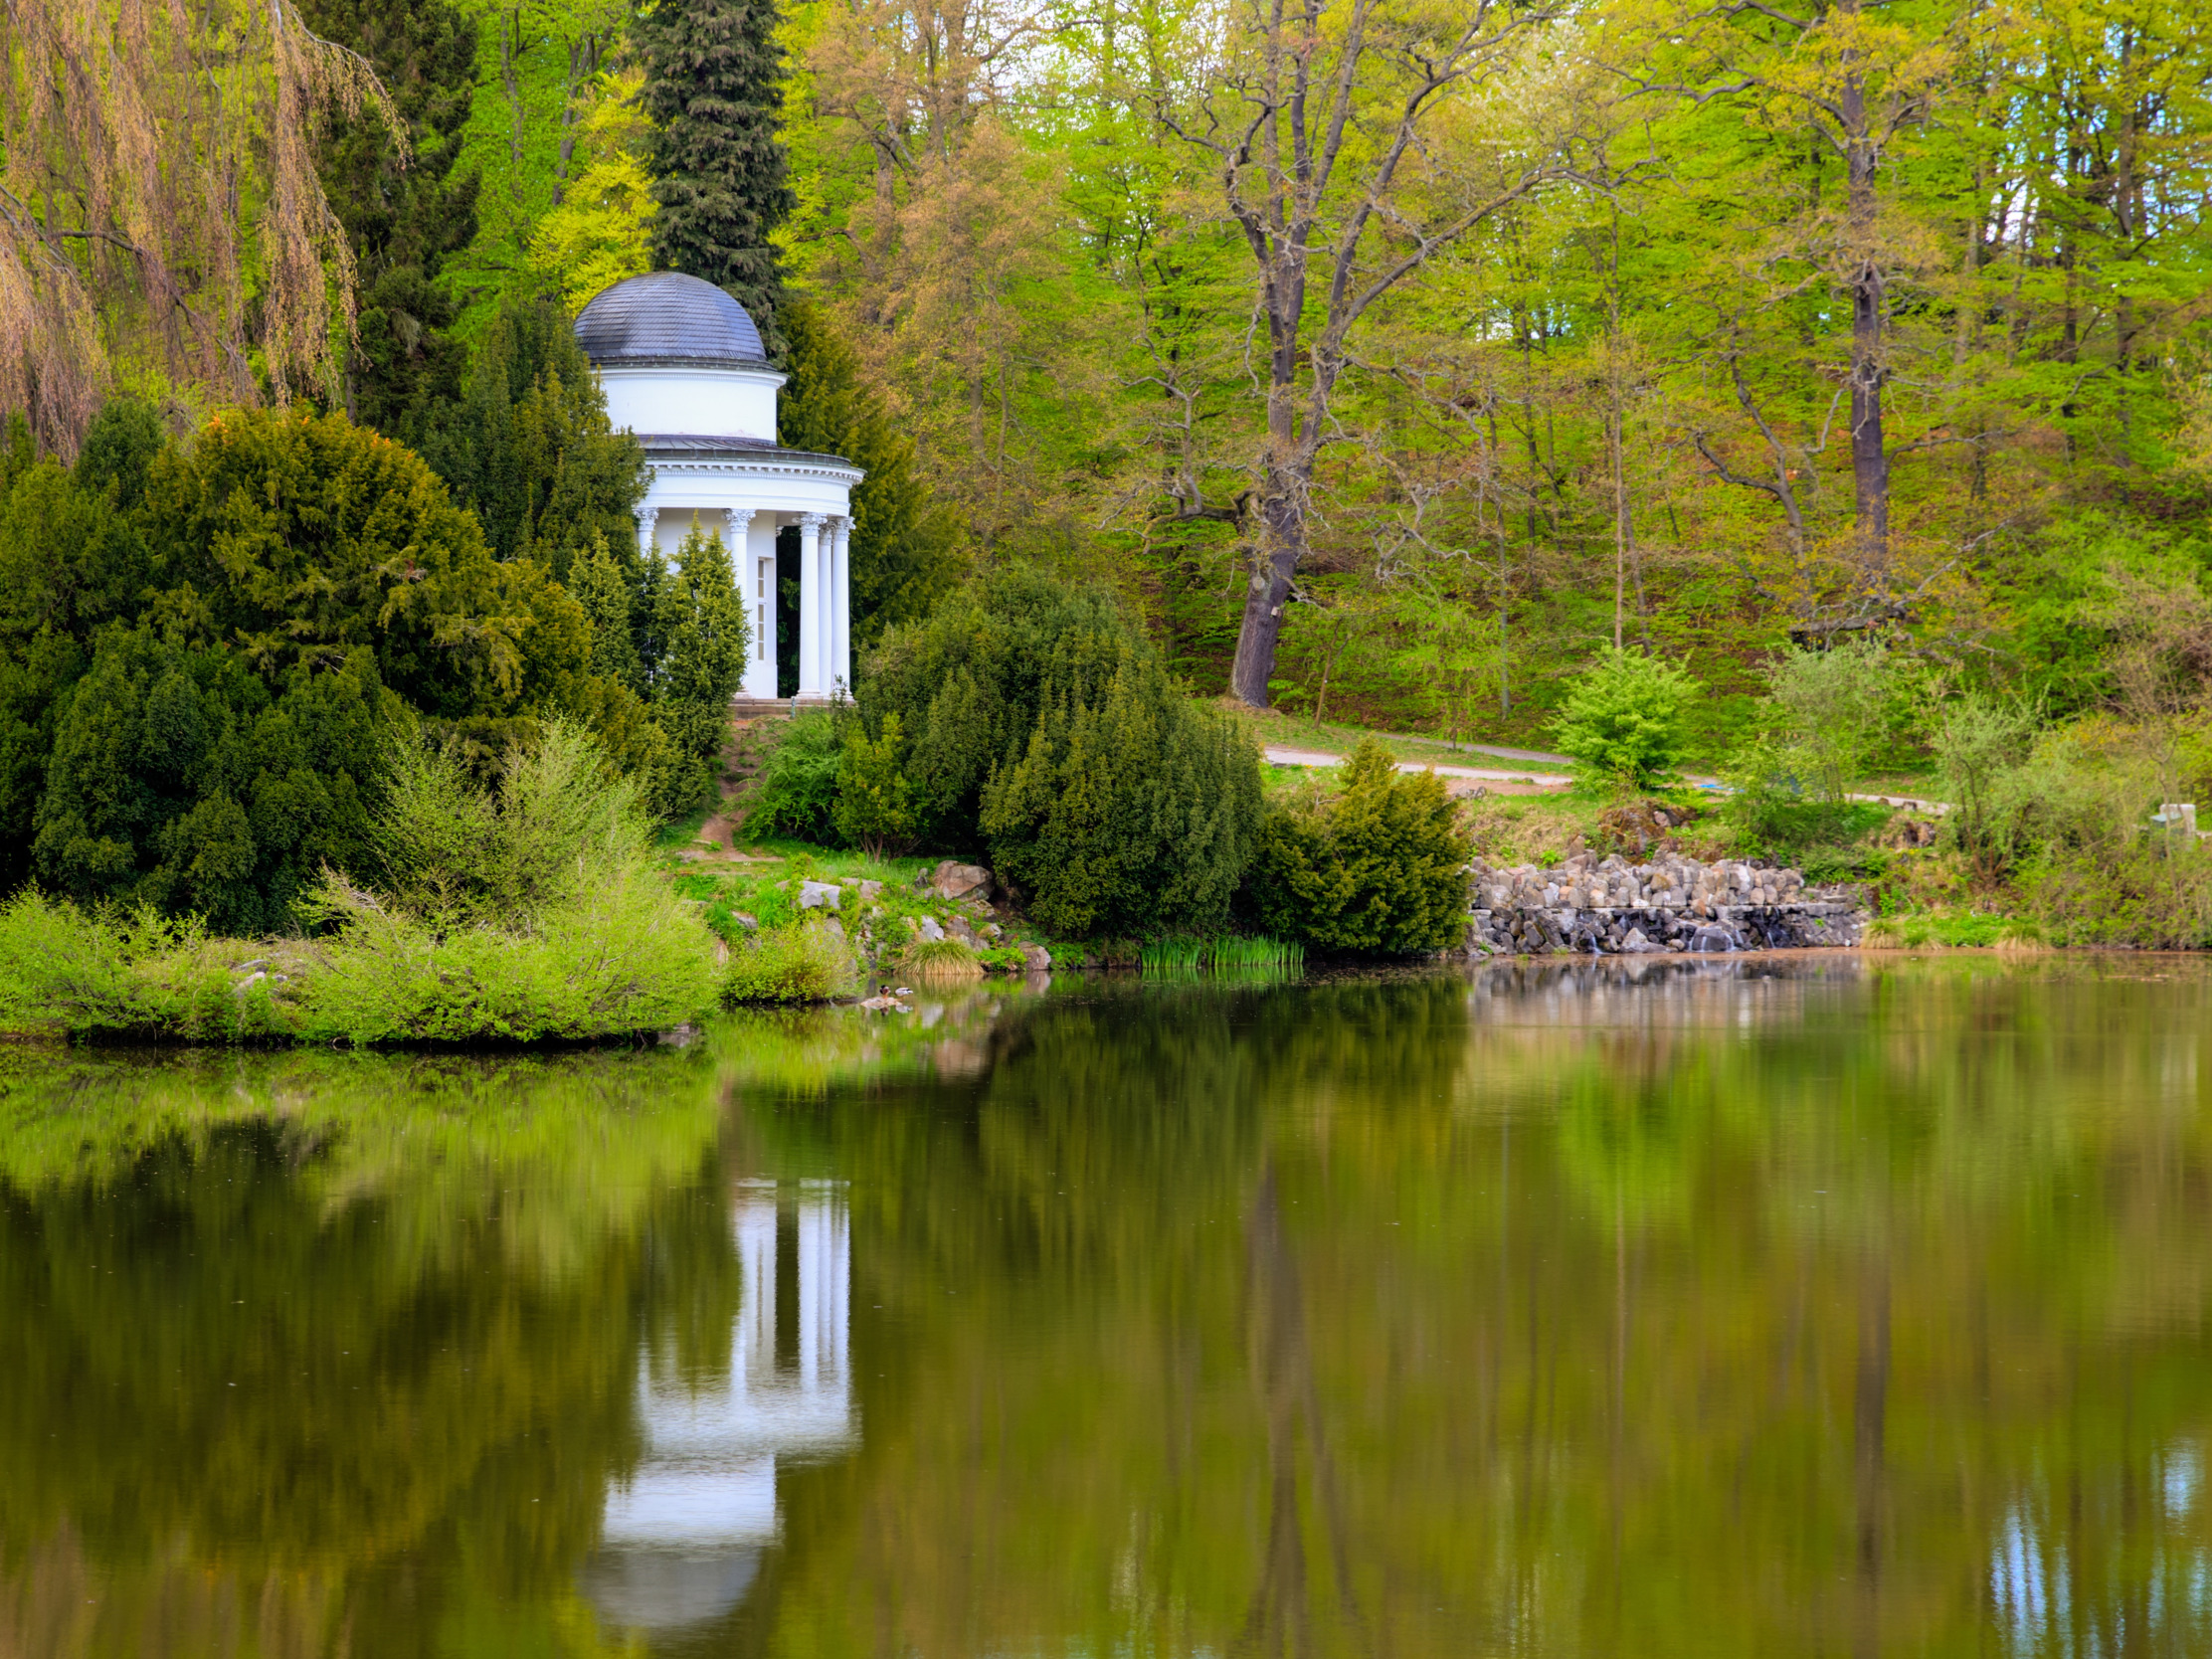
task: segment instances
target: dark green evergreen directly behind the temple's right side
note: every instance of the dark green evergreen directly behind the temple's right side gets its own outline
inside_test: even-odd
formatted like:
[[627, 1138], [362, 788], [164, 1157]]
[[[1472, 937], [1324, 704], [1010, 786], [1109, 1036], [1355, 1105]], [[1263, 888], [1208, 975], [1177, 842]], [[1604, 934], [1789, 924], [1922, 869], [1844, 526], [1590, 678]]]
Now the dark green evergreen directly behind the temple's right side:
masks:
[[914, 440], [891, 420], [830, 314], [792, 294], [776, 319], [792, 376], [776, 403], [776, 440], [845, 456], [867, 471], [852, 491], [852, 641], [863, 650], [885, 628], [927, 615], [953, 584], [960, 522], [933, 498]]

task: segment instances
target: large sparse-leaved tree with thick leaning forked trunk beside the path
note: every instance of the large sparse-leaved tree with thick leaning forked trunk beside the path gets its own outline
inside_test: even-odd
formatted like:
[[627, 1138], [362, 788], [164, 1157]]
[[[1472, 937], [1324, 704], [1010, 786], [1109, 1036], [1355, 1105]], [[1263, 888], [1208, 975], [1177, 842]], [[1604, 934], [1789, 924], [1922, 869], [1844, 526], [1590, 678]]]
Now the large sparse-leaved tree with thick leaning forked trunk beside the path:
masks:
[[1239, 0], [1206, 91], [1159, 111], [1212, 157], [1267, 325], [1259, 546], [1230, 670], [1230, 690], [1254, 708], [1267, 703], [1307, 553], [1347, 336], [1438, 250], [1564, 177], [1548, 146], [1515, 155], [1493, 142], [1467, 146], [1486, 148], [1475, 188], [1438, 188], [1429, 148], [1453, 113], [1473, 117], [1478, 95], [1522, 69], [1524, 38], [1562, 11], [1548, 0]]

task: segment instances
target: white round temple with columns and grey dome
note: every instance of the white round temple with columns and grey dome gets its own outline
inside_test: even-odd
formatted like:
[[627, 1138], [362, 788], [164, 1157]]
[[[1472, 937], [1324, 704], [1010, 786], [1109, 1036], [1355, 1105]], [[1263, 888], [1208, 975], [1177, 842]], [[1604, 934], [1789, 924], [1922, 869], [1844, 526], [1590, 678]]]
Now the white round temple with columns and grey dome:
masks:
[[719, 531], [752, 622], [743, 697], [776, 695], [776, 540], [799, 529], [799, 699], [852, 686], [852, 487], [843, 456], [776, 445], [781, 376], [745, 307], [697, 276], [657, 270], [602, 290], [575, 319], [606, 416], [646, 451], [637, 542], [675, 555]]

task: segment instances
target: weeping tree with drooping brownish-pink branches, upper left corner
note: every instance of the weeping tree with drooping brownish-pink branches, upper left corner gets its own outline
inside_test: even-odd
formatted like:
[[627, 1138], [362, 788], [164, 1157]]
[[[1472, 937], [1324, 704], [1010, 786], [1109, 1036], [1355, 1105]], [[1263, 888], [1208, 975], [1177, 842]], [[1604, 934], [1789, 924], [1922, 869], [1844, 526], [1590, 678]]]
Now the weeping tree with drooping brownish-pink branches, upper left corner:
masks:
[[[0, 407], [73, 453], [122, 374], [181, 400], [334, 387], [354, 257], [325, 108], [405, 124], [283, 0], [0, 0]], [[336, 310], [336, 319], [334, 319]]]

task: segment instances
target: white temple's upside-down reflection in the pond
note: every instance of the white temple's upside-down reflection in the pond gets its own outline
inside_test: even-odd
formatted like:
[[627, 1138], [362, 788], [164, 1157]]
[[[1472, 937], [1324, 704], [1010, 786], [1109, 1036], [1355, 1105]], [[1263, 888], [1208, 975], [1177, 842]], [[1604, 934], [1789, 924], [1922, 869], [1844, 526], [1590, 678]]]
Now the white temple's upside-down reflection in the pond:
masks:
[[675, 1630], [734, 1608], [776, 1540], [776, 1462], [856, 1440], [843, 1186], [743, 1181], [732, 1230], [743, 1296], [728, 1378], [655, 1378], [639, 1356], [646, 1451], [608, 1489], [584, 1568], [584, 1593], [608, 1624]]

